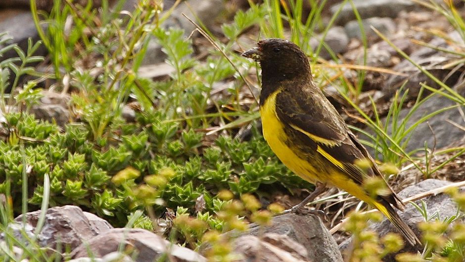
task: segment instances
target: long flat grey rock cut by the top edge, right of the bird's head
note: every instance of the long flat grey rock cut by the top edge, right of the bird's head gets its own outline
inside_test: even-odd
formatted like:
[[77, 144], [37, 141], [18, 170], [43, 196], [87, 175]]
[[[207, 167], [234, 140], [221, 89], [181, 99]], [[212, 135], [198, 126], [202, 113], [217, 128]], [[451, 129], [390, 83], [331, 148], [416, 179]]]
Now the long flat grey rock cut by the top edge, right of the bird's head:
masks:
[[[353, 3], [362, 19], [374, 16], [394, 18], [401, 10], [411, 11], [415, 9], [415, 3], [409, 0], [353, 0]], [[331, 6], [331, 13], [336, 13], [340, 5], [341, 3]], [[343, 25], [355, 19], [352, 5], [346, 3], [337, 16], [336, 23]]]

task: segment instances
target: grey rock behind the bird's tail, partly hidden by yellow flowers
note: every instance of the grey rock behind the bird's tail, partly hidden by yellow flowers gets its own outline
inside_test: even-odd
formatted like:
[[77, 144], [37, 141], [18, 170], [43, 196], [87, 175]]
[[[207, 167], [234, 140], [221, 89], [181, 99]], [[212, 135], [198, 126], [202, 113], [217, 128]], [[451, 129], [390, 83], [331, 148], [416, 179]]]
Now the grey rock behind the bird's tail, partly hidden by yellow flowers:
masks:
[[[447, 186], [450, 184], [452, 184], [452, 182], [438, 180], [438, 179], [426, 179], [415, 185], [405, 188], [404, 190], [399, 192], [398, 195], [401, 199], [405, 199], [405, 198], [417, 195], [419, 193], [423, 193], [431, 189]], [[438, 194], [435, 196], [424, 198], [422, 200], [415, 201], [415, 203], [421, 206], [421, 201], [425, 202], [426, 207], [428, 209], [427, 210], [428, 215], [432, 215], [437, 212], [439, 220], [444, 220], [446, 218], [450, 218], [457, 214], [457, 205], [455, 204], [454, 201], [451, 200], [449, 195]], [[420, 238], [421, 231], [419, 230], [418, 224], [419, 222], [424, 221], [424, 218], [419, 213], [419, 211], [413, 205], [408, 204], [404, 212], [398, 211], [398, 213], [399, 213], [399, 216], [402, 218], [402, 220], [404, 220], [412, 228], [415, 234], [417, 234], [417, 236]], [[465, 221], [465, 219], [461, 218], [461, 221]], [[370, 226], [370, 229], [378, 233], [380, 237], [386, 235], [389, 232], [398, 232], [397, 229], [392, 225], [392, 223], [386, 218], [384, 218], [379, 223], [373, 223]], [[344, 250], [346, 250], [347, 247], [350, 246], [351, 240], [352, 239], [348, 239], [347, 241], [344, 241], [343, 243], [339, 245], [342, 252], [344, 252]], [[404, 249], [402, 249], [398, 253], [404, 253], [404, 252], [413, 252], [413, 253], [420, 252], [421, 253], [422, 250], [423, 250], [423, 247], [420, 244], [417, 244], [415, 247], [412, 247], [411, 245], [407, 244], [404, 247]], [[383, 261], [395, 261], [394, 256], [396, 254], [388, 255], [387, 257], [383, 259]]]

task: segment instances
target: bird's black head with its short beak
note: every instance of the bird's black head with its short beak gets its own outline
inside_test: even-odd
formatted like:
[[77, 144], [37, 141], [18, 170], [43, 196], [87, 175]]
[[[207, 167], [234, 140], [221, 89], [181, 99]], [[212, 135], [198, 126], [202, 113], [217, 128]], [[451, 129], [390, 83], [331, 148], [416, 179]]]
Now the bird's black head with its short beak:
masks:
[[258, 42], [242, 56], [260, 62], [262, 81], [309, 81], [311, 79], [308, 58], [294, 43], [277, 38], [264, 39]]

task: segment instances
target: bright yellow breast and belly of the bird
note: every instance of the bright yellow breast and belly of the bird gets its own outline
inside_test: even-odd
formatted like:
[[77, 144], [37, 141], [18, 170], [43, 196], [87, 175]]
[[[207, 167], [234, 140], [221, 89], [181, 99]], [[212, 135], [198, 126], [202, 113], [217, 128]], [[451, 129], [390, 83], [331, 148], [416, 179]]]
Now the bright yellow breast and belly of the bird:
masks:
[[279, 160], [292, 172], [312, 183], [320, 181], [321, 179], [317, 178], [315, 168], [307, 160], [297, 156], [294, 153], [296, 149], [291, 149], [286, 144], [288, 137], [284, 132], [284, 125], [276, 114], [276, 96], [279, 92], [280, 90], [271, 94], [260, 106], [263, 137]]

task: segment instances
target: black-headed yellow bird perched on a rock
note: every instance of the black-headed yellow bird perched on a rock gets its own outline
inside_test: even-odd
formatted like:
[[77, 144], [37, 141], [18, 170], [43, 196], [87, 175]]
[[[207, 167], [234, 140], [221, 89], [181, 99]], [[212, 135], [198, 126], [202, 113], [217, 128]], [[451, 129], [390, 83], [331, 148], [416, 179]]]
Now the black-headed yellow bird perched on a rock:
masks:
[[[337, 187], [381, 211], [412, 246], [420, 243], [395, 210], [404, 210], [405, 204], [315, 85], [305, 53], [288, 40], [271, 38], [260, 40], [242, 56], [261, 67], [259, 111], [265, 140], [285, 166], [316, 185], [290, 211], [301, 210], [327, 187]], [[370, 164], [361, 167], [359, 161]], [[364, 182], [373, 177], [385, 183], [384, 194], [367, 192]]]

